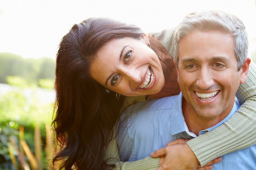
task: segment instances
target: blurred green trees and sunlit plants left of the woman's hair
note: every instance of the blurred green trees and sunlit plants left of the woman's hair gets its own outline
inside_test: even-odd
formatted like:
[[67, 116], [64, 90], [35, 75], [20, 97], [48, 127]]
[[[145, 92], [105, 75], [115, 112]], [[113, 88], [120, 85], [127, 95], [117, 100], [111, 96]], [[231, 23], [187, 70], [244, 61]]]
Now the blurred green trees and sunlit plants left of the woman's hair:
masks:
[[[53, 115], [54, 81], [54, 59], [23, 59], [16, 54], [0, 53], [0, 169], [15, 168], [9, 145], [10, 137], [19, 144], [20, 127], [24, 127], [24, 140], [35, 153], [36, 125], [41, 131], [42, 168], [47, 168], [45, 125], [50, 126]], [[17, 152], [14, 154], [18, 156]]]

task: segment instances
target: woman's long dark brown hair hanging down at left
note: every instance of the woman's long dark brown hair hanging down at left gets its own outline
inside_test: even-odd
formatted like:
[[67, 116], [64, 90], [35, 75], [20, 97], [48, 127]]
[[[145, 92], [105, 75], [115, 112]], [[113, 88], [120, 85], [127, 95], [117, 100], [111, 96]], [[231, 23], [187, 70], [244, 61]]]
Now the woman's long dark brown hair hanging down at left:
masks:
[[[119, 120], [124, 97], [90, 77], [90, 63], [96, 52], [113, 38], [139, 39], [143, 31], [114, 20], [89, 19], [73, 26], [64, 36], [56, 59], [55, 128], [61, 151], [54, 158], [65, 169], [111, 169], [104, 159]], [[153, 37], [150, 37], [152, 44]], [[154, 44], [154, 42], [153, 42]], [[61, 167], [61, 168], [62, 168]]]

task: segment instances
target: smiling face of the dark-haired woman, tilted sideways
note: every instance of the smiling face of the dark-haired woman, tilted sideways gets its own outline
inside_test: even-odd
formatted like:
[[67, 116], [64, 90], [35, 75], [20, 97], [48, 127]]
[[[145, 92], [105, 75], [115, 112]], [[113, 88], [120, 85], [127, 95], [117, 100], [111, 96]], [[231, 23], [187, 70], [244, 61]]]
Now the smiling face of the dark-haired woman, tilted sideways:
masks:
[[157, 94], [165, 84], [160, 59], [148, 47], [148, 37], [124, 37], [106, 43], [90, 65], [96, 82], [118, 94]]

